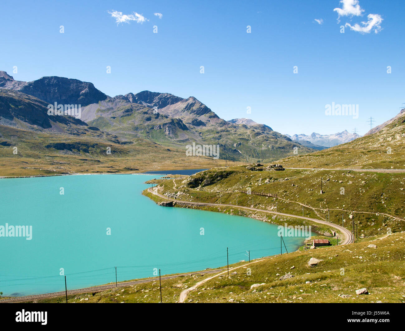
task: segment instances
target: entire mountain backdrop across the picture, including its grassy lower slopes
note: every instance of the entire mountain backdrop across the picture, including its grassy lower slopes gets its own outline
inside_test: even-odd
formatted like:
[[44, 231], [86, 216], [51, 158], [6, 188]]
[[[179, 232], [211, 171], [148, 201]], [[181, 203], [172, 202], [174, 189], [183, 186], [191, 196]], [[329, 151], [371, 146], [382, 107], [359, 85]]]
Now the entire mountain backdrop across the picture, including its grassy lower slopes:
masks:
[[[81, 105], [80, 118], [49, 116], [48, 106], [55, 102]], [[90, 169], [117, 173], [163, 164], [175, 169], [221, 164], [212, 157], [186, 158], [191, 143], [219, 145], [222, 160], [270, 162], [287, 157], [297, 166], [309, 160], [323, 167], [366, 161], [369, 167], [384, 167], [389, 160], [401, 162], [404, 115], [401, 110], [364, 137], [347, 131], [289, 136], [247, 118], [226, 121], [194, 97], [151, 91], [110, 97], [90, 82], [58, 76], [21, 82], [0, 71], [0, 158], [10, 174], [21, 174], [21, 169], [24, 174], [32, 174], [32, 169], [45, 174]], [[10, 152], [13, 147], [19, 148], [17, 158]], [[110, 147], [111, 155], [106, 153]], [[324, 148], [329, 148], [328, 154], [313, 153]], [[297, 149], [305, 158], [294, 158]], [[361, 158], [355, 158], [354, 151]], [[31, 162], [36, 167], [23, 167]]]

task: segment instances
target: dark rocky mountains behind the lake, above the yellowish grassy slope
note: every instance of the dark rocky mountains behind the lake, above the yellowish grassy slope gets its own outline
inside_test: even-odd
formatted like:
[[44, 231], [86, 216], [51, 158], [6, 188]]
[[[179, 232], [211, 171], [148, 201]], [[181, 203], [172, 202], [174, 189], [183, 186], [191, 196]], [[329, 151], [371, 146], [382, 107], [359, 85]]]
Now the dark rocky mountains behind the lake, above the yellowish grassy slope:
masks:
[[[220, 158], [228, 160], [275, 160], [292, 155], [294, 148], [300, 154], [313, 151], [264, 124], [223, 120], [195, 97], [151, 91], [109, 97], [90, 82], [58, 76], [22, 82], [4, 71], [0, 71], [0, 91], [0, 124], [19, 129], [79, 137], [85, 128], [120, 143], [145, 139], [184, 151], [192, 142], [220, 145]], [[17, 105], [20, 100], [25, 102], [22, 108]], [[64, 123], [65, 127], [61, 116], [49, 118], [47, 104], [54, 103], [81, 105], [80, 120]]]

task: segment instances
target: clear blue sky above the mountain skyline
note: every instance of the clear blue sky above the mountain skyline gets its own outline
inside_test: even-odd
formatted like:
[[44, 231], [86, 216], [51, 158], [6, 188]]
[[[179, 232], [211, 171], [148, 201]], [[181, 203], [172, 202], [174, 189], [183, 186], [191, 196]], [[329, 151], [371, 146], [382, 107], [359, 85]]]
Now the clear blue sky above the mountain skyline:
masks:
[[[344, 1], [2, 2], [0, 70], [77, 78], [110, 96], [194, 96], [221, 118], [290, 135], [364, 134], [367, 118], [380, 124], [405, 102], [405, 2]], [[358, 118], [326, 116], [332, 102], [357, 104]]]

